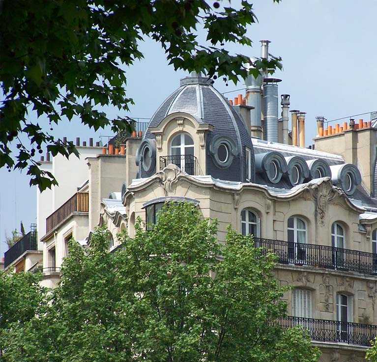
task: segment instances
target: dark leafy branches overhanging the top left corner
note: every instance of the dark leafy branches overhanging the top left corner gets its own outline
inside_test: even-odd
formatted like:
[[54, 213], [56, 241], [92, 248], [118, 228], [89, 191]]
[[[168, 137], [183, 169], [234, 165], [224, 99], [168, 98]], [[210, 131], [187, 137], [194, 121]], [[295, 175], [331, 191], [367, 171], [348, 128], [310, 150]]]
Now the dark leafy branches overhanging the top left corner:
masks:
[[[54, 138], [54, 124], [78, 117], [95, 130], [130, 130], [128, 116], [110, 119], [103, 107], [128, 111], [133, 104], [124, 69], [143, 57], [138, 46], [147, 37], [161, 44], [174, 69], [236, 83], [250, 59], [223, 46], [250, 46], [246, 30], [255, 22], [247, 0], [239, 10], [204, 0], [0, 1], [0, 167], [28, 168], [30, 184], [42, 191], [57, 180], [39, 168], [35, 149], [78, 155], [72, 142]], [[258, 60], [250, 72], [281, 67], [279, 60]], [[28, 116], [33, 111], [38, 122]]]

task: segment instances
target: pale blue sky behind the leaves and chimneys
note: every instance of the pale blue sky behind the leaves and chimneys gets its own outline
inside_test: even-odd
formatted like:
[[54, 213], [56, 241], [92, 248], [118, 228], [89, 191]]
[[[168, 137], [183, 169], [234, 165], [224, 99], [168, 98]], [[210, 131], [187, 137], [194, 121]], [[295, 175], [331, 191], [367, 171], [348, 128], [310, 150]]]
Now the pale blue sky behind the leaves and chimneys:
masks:
[[[232, 4], [239, 2], [233, 0]], [[283, 80], [279, 94], [290, 94], [291, 109], [307, 112], [307, 145], [315, 136], [316, 115], [330, 120], [377, 110], [376, 0], [283, 0], [279, 4], [255, 0], [254, 9], [259, 23], [248, 32], [253, 48], [232, 45], [227, 49], [259, 56], [259, 40], [271, 41], [269, 52], [283, 58], [284, 70], [277, 73]], [[146, 39], [140, 49], [145, 59], [126, 70], [128, 96], [136, 103], [128, 115], [150, 117], [185, 74], [168, 65], [163, 50], [153, 41]], [[225, 92], [243, 85], [226, 87], [217, 80], [214, 86]], [[114, 116], [124, 115], [114, 109], [108, 111]], [[35, 120], [34, 115], [30, 117]], [[49, 128], [47, 122], [43, 125]], [[54, 127], [53, 133], [60, 138], [99, 140], [100, 135], [110, 135], [111, 131], [94, 133], [76, 119]], [[9, 234], [19, 228], [21, 220], [27, 230], [35, 223], [36, 190], [29, 187], [25, 172], [6, 169], [0, 169], [0, 186], [1, 256], [6, 250], [5, 231]]]

